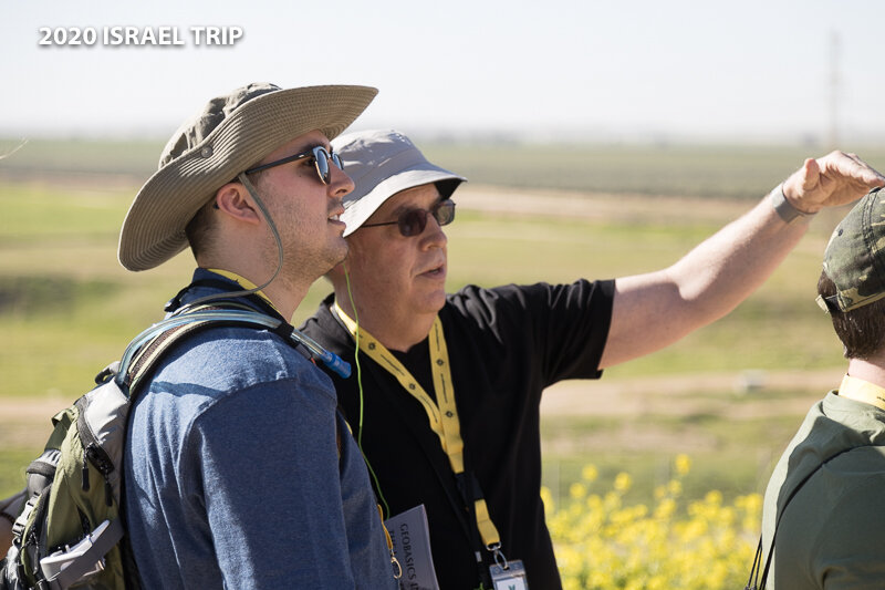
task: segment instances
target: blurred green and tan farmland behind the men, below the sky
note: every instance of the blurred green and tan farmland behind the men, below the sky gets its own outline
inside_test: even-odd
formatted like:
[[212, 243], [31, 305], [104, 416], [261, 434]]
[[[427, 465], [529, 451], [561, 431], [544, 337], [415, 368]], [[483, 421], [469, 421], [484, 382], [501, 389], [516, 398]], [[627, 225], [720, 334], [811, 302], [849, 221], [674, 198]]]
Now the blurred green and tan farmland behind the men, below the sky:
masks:
[[[449, 290], [572, 281], [676, 261], [820, 149], [419, 142], [462, 172], [449, 226]], [[0, 154], [19, 145], [0, 141]], [[148, 272], [116, 262], [119, 224], [160, 143], [33, 141], [0, 161], [0, 496], [22, 485], [49, 417], [128, 340], [162, 318], [189, 253]], [[885, 148], [857, 148], [878, 169]], [[787, 262], [728, 318], [678, 344], [554, 386], [543, 403], [544, 483], [569, 497], [587, 464], [601, 486], [633, 477], [650, 503], [687, 454], [686, 498], [761, 491], [801, 416], [843, 360], [814, 303], [820, 258], [844, 211], [826, 211]], [[317, 282], [300, 323], [329, 291]]]

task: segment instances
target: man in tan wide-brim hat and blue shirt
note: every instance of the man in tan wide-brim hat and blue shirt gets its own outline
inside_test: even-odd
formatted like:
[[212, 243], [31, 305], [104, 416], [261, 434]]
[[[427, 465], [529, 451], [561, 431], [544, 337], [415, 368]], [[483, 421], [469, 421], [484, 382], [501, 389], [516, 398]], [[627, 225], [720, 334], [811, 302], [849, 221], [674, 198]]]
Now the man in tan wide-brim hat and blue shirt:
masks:
[[[353, 183], [330, 139], [376, 90], [250, 84], [167, 144], [119, 237], [198, 269], [167, 311], [236, 298], [291, 328], [347, 251]], [[284, 331], [284, 330], [283, 330]], [[167, 353], [131, 413], [127, 530], [144, 588], [395, 588], [362, 455], [332, 382], [280, 330], [219, 327]]]

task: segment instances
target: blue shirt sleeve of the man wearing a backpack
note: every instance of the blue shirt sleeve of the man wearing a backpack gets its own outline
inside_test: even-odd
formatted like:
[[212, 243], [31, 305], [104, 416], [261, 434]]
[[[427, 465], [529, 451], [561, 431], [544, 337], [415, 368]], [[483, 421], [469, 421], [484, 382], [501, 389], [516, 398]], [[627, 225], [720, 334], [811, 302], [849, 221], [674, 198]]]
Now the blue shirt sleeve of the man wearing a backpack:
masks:
[[186, 493], [205, 501], [228, 588], [354, 587], [335, 432], [334, 401], [298, 379], [240, 391], [195, 422]]

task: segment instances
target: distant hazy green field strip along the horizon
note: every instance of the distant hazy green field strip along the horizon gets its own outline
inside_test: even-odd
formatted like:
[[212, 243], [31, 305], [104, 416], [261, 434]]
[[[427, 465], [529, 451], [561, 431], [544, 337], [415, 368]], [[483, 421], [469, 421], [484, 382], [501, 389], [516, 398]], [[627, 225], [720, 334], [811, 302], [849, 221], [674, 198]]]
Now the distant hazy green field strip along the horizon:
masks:
[[[168, 130], [170, 133], [173, 130]], [[829, 149], [784, 145], [580, 145], [444, 141], [415, 137], [427, 157], [482, 185], [593, 193], [754, 199]], [[0, 155], [21, 146], [0, 137]], [[140, 183], [156, 170], [163, 141], [33, 138], [0, 162], [19, 177], [112, 174]], [[843, 145], [877, 169], [885, 146]]]

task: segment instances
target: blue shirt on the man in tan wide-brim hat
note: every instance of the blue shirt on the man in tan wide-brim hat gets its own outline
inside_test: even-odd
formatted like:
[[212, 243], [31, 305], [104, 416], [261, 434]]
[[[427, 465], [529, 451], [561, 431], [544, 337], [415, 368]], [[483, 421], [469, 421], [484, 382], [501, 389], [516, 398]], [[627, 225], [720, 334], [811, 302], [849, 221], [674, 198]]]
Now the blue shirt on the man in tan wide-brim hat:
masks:
[[331, 381], [277, 334], [177, 344], [133, 407], [125, 464], [146, 588], [396, 588]]

